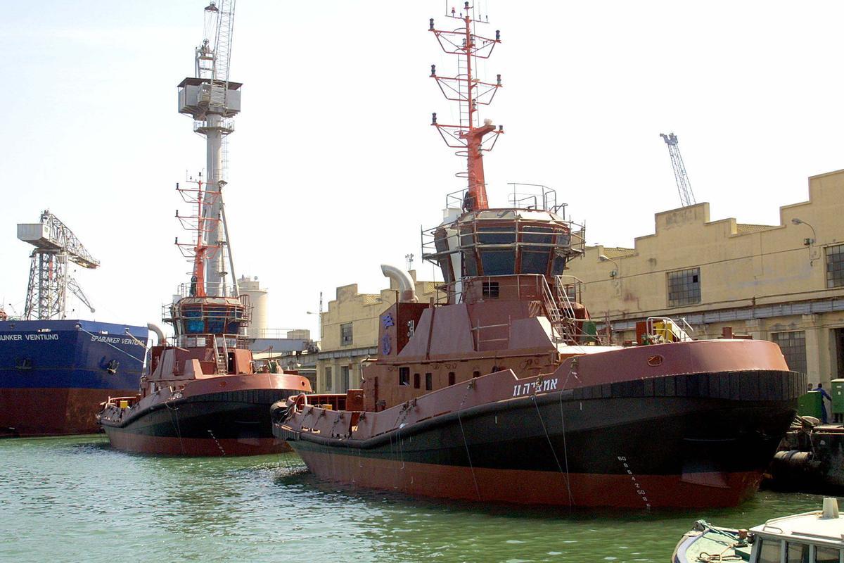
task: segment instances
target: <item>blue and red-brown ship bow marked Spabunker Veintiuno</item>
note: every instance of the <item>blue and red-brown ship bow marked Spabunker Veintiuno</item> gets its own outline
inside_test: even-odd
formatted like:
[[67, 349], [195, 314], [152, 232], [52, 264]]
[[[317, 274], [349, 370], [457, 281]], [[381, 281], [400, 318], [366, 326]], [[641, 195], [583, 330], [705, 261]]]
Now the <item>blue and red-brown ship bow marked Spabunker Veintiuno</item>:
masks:
[[111, 322], [0, 322], [0, 435], [97, 431], [100, 403], [137, 392], [148, 336]]

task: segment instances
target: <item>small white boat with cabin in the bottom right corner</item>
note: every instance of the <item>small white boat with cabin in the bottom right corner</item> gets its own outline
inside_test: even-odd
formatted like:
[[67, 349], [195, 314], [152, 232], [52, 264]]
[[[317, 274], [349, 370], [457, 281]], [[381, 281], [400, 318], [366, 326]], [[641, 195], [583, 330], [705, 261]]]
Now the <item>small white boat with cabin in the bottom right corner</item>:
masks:
[[672, 563], [844, 563], [844, 517], [838, 501], [822, 510], [768, 520], [746, 529], [717, 528], [698, 520], [674, 548]]

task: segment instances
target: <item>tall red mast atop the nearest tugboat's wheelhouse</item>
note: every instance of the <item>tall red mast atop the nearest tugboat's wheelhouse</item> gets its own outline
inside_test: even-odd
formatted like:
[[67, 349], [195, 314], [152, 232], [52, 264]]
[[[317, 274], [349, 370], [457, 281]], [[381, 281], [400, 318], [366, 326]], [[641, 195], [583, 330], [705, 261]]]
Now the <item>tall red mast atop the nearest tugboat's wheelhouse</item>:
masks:
[[[447, 4], [446, 4], [447, 6]], [[486, 181], [484, 179], [484, 151], [492, 150], [499, 133], [504, 133], [504, 127], [495, 129], [490, 119], [479, 124], [478, 106], [488, 106], [495, 97], [495, 92], [501, 87], [501, 75], [497, 75], [495, 84], [481, 82], [473, 77], [473, 68], [477, 68], [478, 59], [490, 58], [495, 44], [500, 43], [500, 31], [495, 30], [495, 39], [488, 39], [474, 33], [474, 24], [486, 24], [480, 14], [475, 17], [474, 7], [466, 2], [464, 11], [459, 15], [452, 8], [446, 18], [460, 19], [463, 25], [453, 31], [434, 29], [434, 19], [430, 19], [429, 30], [436, 35], [442, 50], [450, 55], [457, 55], [457, 76], [442, 77], [436, 74], [436, 65], [430, 66], [431, 78], [436, 78], [437, 84], [446, 96], [446, 100], [457, 101], [460, 108], [459, 125], [442, 125], [436, 122], [436, 113], [431, 116], [431, 125], [437, 128], [446, 145], [457, 151], [458, 156], [466, 158], [466, 171], [458, 172], [457, 177], [468, 181], [467, 192], [463, 198], [463, 208], [466, 211], [489, 208], [486, 199]], [[474, 62], [474, 64], [473, 64]], [[484, 139], [494, 133], [491, 138]], [[490, 141], [491, 143], [487, 143]], [[486, 146], [484, 146], [486, 144]]]

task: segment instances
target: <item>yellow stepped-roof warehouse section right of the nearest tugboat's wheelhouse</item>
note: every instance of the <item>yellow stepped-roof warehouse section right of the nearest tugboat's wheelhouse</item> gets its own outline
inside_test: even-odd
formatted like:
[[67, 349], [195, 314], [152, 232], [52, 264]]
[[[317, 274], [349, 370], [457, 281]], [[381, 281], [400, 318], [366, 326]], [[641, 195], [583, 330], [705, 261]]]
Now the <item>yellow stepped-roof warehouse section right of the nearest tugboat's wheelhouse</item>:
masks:
[[693, 338], [723, 328], [780, 345], [809, 382], [844, 377], [844, 171], [809, 178], [809, 200], [778, 225], [711, 220], [708, 203], [657, 213], [633, 248], [587, 246], [565, 273], [582, 280], [592, 317], [615, 343], [636, 321], [684, 318]]

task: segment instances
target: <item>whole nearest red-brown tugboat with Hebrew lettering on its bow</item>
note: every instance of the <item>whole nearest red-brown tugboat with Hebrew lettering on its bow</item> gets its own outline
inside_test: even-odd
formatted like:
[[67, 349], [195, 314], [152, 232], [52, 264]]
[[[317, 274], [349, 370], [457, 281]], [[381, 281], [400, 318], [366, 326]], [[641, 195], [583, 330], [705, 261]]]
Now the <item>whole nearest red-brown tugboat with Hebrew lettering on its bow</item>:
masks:
[[[432, 125], [467, 160], [468, 188], [423, 256], [441, 269], [440, 303], [415, 302], [406, 273], [381, 314], [361, 389], [301, 394], [273, 407], [273, 434], [321, 479], [457, 500], [563, 506], [732, 506], [755, 493], [805, 378], [771, 342], [692, 341], [667, 318], [641, 345], [598, 342], [565, 263], [583, 228], [555, 192], [489, 208], [482, 154], [503, 128], [479, 124], [500, 87], [473, 77], [500, 42], [465, 4], [454, 31], [430, 31], [461, 57], [431, 75], [463, 121]], [[485, 14], [484, 14], [485, 15]], [[452, 14], [446, 14], [452, 17]], [[485, 97], [484, 97], [485, 96]], [[490, 139], [488, 138], [488, 139]]]

